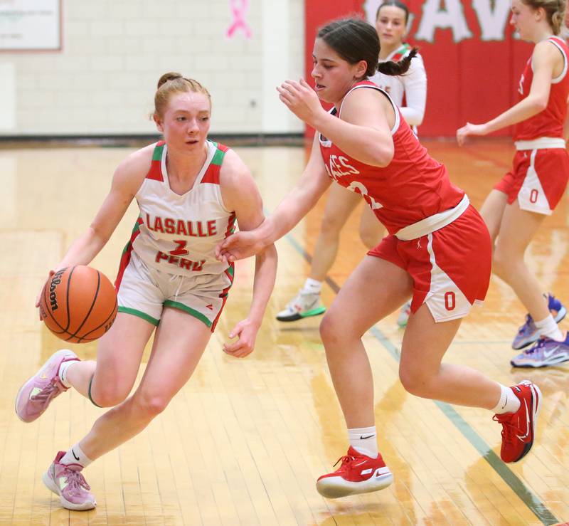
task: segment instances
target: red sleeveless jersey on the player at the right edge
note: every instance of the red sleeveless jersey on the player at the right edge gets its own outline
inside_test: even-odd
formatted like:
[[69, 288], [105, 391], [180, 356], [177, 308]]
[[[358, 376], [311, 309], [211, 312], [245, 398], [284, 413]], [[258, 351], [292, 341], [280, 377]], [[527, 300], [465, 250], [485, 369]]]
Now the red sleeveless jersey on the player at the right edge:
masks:
[[[569, 75], [567, 74], [569, 48], [567, 43], [558, 36], [551, 36], [548, 41], [557, 46], [563, 55], [563, 71], [558, 78], [551, 80], [551, 90], [546, 109], [516, 125], [516, 132], [514, 133], [514, 140], [516, 141], [532, 140], [538, 137], [563, 138], [563, 125], [567, 116], [567, 98], [569, 95]], [[518, 88], [519, 100], [528, 96], [532, 80], [533, 69], [530, 57], [521, 74]]]

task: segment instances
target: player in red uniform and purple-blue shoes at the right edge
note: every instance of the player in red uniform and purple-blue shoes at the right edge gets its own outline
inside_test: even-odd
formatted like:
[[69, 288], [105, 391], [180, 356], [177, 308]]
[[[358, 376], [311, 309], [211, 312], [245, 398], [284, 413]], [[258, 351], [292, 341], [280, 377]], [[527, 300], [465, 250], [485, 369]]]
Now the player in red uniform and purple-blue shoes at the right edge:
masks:
[[[457, 130], [486, 135], [516, 125], [514, 167], [484, 201], [481, 214], [494, 246], [494, 273], [514, 289], [529, 313], [512, 347], [533, 347], [511, 360], [514, 367], [545, 367], [569, 360], [569, 337], [558, 327], [567, 310], [553, 295], [542, 295], [523, 260], [530, 241], [560, 201], [569, 179], [567, 102], [569, 48], [559, 35], [565, 27], [565, 0], [512, 0], [513, 24], [523, 40], [536, 44], [519, 83], [519, 102], [481, 125]], [[545, 300], [544, 300], [545, 298]]]

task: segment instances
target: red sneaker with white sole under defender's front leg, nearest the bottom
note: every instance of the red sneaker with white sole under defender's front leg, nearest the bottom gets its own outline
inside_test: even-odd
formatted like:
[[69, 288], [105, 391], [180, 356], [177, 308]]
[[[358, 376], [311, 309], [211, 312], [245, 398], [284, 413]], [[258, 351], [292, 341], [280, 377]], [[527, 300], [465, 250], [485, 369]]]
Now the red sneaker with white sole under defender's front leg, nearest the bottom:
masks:
[[338, 462], [340, 461], [341, 465], [334, 473], [322, 475], [317, 480], [316, 488], [323, 497], [334, 499], [369, 493], [383, 490], [393, 482], [393, 475], [381, 455], [370, 458], [350, 447], [348, 454], [341, 457]]

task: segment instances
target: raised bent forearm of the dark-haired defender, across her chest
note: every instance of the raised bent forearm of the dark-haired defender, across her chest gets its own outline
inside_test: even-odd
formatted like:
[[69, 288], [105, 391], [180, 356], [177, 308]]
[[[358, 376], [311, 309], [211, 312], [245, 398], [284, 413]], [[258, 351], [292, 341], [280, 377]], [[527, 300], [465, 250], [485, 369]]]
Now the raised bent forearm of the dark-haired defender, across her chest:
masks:
[[393, 142], [375, 128], [353, 125], [327, 112], [321, 112], [314, 128], [359, 162], [385, 167], [393, 158]]

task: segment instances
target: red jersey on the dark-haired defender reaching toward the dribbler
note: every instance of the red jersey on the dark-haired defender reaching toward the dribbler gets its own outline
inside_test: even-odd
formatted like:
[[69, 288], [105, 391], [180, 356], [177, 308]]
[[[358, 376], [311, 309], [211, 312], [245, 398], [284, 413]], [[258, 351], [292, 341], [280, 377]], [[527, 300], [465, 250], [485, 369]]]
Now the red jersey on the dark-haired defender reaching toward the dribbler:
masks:
[[[368, 80], [357, 83], [348, 93], [363, 88], [381, 91], [389, 98]], [[425, 217], [453, 208], [464, 191], [450, 182], [444, 164], [430, 157], [401, 117], [398, 107], [389, 100], [395, 110], [395, 125], [391, 130], [395, 153], [388, 166], [364, 164], [321, 134], [319, 140], [329, 176], [341, 186], [362, 194], [388, 232], [395, 233]], [[340, 113], [341, 107], [331, 109], [332, 115]]]

